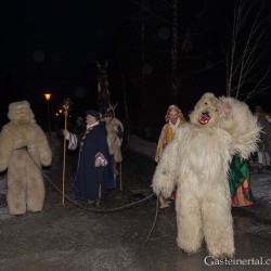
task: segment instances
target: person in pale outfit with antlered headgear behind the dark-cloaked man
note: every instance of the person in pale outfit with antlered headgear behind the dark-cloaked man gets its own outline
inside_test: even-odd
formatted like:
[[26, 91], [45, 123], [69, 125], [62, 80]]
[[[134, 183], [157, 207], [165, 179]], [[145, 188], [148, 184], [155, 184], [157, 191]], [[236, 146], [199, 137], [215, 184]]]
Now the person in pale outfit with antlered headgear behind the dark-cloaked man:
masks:
[[[103, 115], [105, 128], [107, 131], [107, 143], [113, 163], [114, 182], [116, 185], [116, 177], [121, 173], [119, 164], [122, 162], [121, 145], [124, 139], [124, 126], [121, 121], [115, 117], [113, 111], [106, 109]], [[111, 179], [111, 176], [108, 177]], [[108, 181], [111, 186], [111, 181]]]

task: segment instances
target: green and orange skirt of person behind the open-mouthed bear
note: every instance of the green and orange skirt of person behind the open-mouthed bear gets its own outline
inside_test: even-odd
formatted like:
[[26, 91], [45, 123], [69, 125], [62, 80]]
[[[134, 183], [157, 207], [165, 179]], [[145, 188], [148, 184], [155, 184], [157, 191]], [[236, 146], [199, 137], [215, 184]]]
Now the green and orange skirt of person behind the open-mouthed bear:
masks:
[[229, 173], [230, 192], [233, 207], [254, 205], [254, 196], [250, 189], [250, 173], [248, 160], [237, 155], [232, 157]]

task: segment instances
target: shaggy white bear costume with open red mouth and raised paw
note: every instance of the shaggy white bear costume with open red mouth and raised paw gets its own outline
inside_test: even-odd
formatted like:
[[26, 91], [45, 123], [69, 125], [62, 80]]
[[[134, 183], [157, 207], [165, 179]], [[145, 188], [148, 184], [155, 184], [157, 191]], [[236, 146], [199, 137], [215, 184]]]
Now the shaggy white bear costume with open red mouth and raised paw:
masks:
[[245, 103], [209, 92], [195, 105], [191, 124], [178, 128], [156, 167], [153, 190], [170, 197], [178, 186], [177, 243], [184, 251], [196, 253], [205, 238], [211, 256], [233, 257], [229, 164], [234, 154], [247, 159], [259, 133]]

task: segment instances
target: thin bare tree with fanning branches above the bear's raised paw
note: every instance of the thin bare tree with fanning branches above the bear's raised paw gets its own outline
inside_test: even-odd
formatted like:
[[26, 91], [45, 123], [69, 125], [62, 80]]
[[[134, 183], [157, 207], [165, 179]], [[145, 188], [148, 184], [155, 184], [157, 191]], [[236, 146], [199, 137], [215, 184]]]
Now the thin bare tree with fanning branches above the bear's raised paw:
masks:
[[227, 95], [247, 101], [264, 95], [270, 90], [269, 60], [266, 55], [269, 44], [264, 37], [262, 7], [255, 13], [255, 7], [245, 0], [237, 0], [234, 7], [232, 35], [227, 51]]

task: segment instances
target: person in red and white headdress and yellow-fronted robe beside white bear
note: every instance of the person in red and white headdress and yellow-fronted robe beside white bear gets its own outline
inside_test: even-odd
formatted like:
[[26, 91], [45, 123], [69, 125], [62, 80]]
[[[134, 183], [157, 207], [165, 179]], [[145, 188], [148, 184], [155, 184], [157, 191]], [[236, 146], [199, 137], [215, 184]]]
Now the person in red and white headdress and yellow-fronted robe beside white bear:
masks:
[[[157, 150], [155, 154], [155, 162], [158, 164], [160, 160], [162, 153], [164, 152], [167, 144], [173, 139], [178, 127], [186, 122], [181, 109], [172, 104], [168, 107], [165, 116], [166, 124], [162, 128]], [[175, 192], [173, 192], [175, 197]], [[160, 208], [169, 206], [170, 201], [166, 199], [163, 195], [159, 196]]]

